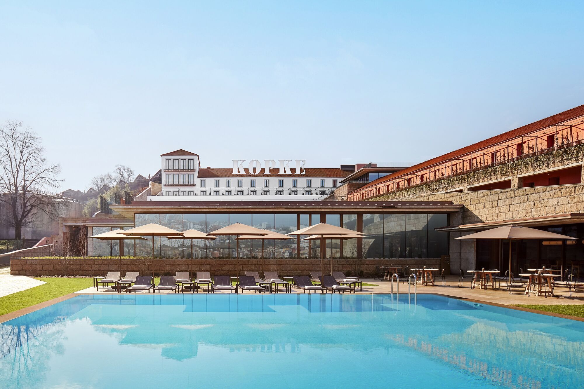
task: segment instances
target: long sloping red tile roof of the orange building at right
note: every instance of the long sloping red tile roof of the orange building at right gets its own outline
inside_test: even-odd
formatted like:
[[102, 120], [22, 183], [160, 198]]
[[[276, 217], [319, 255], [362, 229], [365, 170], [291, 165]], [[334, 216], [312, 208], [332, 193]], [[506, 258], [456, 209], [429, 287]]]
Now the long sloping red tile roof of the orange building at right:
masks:
[[440, 162], [448, 161], [449, 159], [460, 157], [461, 155], [468, 154], [472, 151], [481, 150], [482, 148], [488, 147], [492, 144], [504, 142], [507, 140], [511, 140], [516, 137], [524, 136], [526, 134], [533, 133], [537, 130], [542, 130], [543, 128], [554, 126], [555, 124], [563, 123], [564, 121], [576, 119], [576, 117], [584, 116], [584, 105], [580, 105], [578, 107], [568, 109], [564, 112], [557, 113], [550, 117], [546, 117], [545, 119], [541, 119], [538, 121], [534, 121], [533, 123], [526, 124], [525, 126], [515, 128], [515, 130], [507, 131], [506, 133], [502, 133], [496, 135], [494, 137], [485, 139], [483, 141], [468, 145], [463, 148], [459, 148], [458, 150], [454, 150], [448, 152], [447, 154], [440, 155], [440, 157], [429, 159], [428, 161], [421, 162], [418, 165], [410, 166], [409, 168], [405, 168], [399, 172], [391, 173], [381, 179], [377, 179], [373, 182], [368, 183], [367, 185], [360, 187], [357, 189], [358, 191], [366, 189], [371, 186], [376, 186], [382, 182], [398, 178], [404, 175], [408, 175], [409, 173], [418, 171], [420, 169], [425, 169], [429, 166], [440, 164]]

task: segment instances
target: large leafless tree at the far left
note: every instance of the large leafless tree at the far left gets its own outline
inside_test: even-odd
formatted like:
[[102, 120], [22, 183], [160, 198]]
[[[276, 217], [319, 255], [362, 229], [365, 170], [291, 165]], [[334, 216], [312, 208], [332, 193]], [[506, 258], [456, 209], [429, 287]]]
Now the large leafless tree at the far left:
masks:
[[8, 212], [4, 223], [14, 227], [15, 239], [22, 239], [23, 227], [43, 216], [62, 215], [67, 202], [58, 189], [58, 164], [48, 164], [41, 138], [22, 121], [8, 121], [0, 127], [0, 203]]

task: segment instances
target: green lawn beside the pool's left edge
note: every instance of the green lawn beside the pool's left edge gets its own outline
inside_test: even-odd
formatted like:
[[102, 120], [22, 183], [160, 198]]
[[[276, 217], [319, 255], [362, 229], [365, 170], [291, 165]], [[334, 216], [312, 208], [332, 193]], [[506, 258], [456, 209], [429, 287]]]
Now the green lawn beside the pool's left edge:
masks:
[[93, 285], [91, 278], [34, 277], [46, 282], [39, 286], [0, 297], [0, 315], [30, 307]]

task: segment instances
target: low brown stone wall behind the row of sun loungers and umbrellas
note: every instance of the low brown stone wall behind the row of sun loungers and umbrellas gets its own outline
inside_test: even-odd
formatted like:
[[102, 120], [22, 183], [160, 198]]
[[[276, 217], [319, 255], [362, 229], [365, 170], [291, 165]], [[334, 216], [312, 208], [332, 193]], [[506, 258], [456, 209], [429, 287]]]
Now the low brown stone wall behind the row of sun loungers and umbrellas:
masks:
[[[11, 274], [23, 276], [99, 276], [107, 272], [119, 271], [119, 259], [34, 259], [18, 258], [11, 260]], [[241, 272], [259, 271], [260, 259], [239, 259]], [[325, 271], [331, 268], [330, 259], [325, 260]], [[364, 276], [373, 276], [376, 265], [439, 267], [440, 259], [333, 259], [333, 269], [356, 274], [360, 265]], [[319, 259], [265, 259], [264, 270], [277, 271], [281, 277], [308, 275], [320, 271]], [[235, 259], [195, 259], [191, 268], [190, 259], [122, 259], [121, 273], [139, 271], [143, 274], [174, 275], [175, 272], [211, 272], [211, 276], [235, 275]]]

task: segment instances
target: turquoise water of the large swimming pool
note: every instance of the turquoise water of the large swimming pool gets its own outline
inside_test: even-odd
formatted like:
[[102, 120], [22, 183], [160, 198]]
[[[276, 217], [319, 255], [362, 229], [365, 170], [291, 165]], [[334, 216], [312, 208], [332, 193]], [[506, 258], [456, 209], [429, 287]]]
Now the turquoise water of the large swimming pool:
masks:
[[584, 322], [433, 295], [83, 295], [0, 336], [1, 387], [584, 384]]

